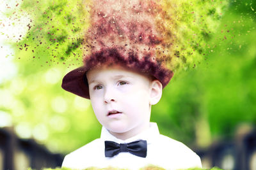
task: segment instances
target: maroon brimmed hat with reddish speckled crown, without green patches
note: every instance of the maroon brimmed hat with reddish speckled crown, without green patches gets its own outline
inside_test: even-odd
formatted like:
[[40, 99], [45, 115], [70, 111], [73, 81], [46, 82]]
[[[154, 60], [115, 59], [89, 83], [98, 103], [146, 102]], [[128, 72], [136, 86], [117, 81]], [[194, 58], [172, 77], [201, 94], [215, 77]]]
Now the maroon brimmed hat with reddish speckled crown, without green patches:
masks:
[[84, 66], [66, 74], [61, 87], [90, 99], [86, 71], [114, 64], [151, 74], [165, 87], [173, 72], [167, 67], [171, 43], [162, 17], [161, 6], [152, 0], [93, 0]]

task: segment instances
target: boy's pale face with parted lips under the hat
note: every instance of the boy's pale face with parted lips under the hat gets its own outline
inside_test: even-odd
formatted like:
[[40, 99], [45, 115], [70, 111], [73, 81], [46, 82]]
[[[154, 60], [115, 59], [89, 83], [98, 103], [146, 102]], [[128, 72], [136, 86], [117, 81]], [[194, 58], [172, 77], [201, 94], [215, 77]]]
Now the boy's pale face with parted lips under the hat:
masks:
[[147, 129], [150, 121], [148, 76], [120, 66], [86, 73], [93, 111], [106, 129], [120, 139]]

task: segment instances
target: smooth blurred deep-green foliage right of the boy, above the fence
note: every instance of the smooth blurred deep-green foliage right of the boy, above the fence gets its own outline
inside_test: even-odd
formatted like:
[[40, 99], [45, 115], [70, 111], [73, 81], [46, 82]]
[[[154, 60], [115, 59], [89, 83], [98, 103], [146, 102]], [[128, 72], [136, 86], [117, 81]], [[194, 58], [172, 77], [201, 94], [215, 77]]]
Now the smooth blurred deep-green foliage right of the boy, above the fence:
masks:
[[250, 2], [230, 5], [207, 45], [205, 61], [175, 74], [164, 89], [152, 108], [152, 120], [160, 122], [164, 134], [208, 146], [212, 139], [233, 138], [240, 124], [256, 124], [256, 17], [249, 5], [244, 8]]

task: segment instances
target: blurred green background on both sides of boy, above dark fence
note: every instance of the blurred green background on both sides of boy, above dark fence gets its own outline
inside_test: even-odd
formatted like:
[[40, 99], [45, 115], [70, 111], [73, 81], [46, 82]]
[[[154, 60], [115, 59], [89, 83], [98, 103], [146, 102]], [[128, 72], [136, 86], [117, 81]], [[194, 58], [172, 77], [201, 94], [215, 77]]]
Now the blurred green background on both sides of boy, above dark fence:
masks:
[[[241, 125], [255, 127], [255, 27], [256, 2], [230, 1], [207, 42], [205, 60], [175, 73], [153, 106], [151, 121], [162, 134], [204, 148], [234, 138]], [[63, 76], [77, 66], [38, 62], [45, 60], [13, 59], [17, 73], [0, 81], [0, 126], [11, 126], [20, 138], [34, 138], [56, 153], [99, 138], [90, 101], [61, 89]]]

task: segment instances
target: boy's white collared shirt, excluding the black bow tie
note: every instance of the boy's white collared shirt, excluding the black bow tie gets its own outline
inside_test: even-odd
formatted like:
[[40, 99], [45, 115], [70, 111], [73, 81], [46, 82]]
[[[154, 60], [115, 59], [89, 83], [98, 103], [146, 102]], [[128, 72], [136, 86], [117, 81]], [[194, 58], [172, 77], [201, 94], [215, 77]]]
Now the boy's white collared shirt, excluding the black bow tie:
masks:
[[[129, 152], [121, 152], [111, 158], [105, 157], [104, 141], [130, 143], [138, 139], [147, 140], [146, 158], [132, 155]], [[106, 128], [102, 127], [100, 138], [66, 155], [62, 167], [85, 169], [88, 167], [106, 168], [111, 166], [123, 169], [140, 169], [148, 165], [170, 170], [202, 167], [200, 157], [195, 152], [183, 143], [159, 134], [156, 123], [150, 123], [147, 131], [143, 131], [127, 140], [115, 138]]]

